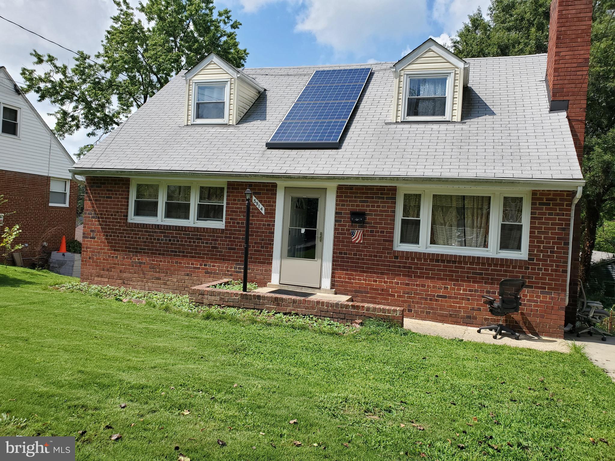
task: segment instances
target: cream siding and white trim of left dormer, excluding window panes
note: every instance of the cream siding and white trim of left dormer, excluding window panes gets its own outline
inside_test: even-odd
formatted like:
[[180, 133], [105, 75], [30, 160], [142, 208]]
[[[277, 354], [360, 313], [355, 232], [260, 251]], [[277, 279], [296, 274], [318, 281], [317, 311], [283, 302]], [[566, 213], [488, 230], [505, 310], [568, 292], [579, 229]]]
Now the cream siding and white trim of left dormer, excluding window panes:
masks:
[[[186, 73], [186, 125], [228, 124], [236, 125], [250, 109], [263, 88], [253, 79], [212, 53]], [[226, 85], [224, 119], [196, 119], [195, 88], [199, 84]]]

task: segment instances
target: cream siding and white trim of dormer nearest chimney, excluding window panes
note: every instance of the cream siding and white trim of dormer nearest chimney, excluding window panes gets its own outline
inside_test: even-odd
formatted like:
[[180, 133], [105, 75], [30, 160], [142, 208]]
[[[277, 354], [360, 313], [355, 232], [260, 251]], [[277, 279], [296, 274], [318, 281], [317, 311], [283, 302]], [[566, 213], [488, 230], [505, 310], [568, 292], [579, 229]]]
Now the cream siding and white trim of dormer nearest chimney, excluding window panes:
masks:
[[461, 121], [463, 87], [467, 85], [469, 65], [442, 45], [429, 39], [393, 66], [394, 90], [392, 122], [429, 121], [430, 117], [407, 117], [408, 79], [446, 77], [446, 111], [434, 121]]

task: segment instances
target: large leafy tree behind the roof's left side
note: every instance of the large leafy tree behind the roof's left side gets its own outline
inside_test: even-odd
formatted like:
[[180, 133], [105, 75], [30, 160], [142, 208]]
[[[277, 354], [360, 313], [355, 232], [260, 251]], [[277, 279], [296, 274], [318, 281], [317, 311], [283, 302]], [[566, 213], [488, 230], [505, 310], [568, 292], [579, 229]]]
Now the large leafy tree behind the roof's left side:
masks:
[[[48, 100], [57, 109], [54, 132], [63, 139], [80, 128], [97, 138], [118, 127], [182, 69], [191, 68], [215, 52], [232, 65], [244, 65], [248, 52], [239, 47], [229, 9], [217, 10], [213, 0], [146, 0], [135, 17], [128, 0], [114, 0], [117, 14], [102, 41], [102, 51], [79, 51], [73, 67], [59, 64], [53, 55], [33, 50], [36, 69], [22, 68], [25, 93]], [[93, 147], [79, 149], [81, 156]]]

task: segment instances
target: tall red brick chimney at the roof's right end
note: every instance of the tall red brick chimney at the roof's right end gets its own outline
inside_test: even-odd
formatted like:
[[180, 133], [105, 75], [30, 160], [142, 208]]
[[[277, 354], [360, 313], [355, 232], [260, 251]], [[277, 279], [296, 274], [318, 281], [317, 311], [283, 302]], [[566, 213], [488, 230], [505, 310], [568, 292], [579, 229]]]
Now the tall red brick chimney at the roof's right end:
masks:
[[592, 0], [552, 0], [547, 51], [550, 110], [568, 112], [579, 164], [583, 157]]

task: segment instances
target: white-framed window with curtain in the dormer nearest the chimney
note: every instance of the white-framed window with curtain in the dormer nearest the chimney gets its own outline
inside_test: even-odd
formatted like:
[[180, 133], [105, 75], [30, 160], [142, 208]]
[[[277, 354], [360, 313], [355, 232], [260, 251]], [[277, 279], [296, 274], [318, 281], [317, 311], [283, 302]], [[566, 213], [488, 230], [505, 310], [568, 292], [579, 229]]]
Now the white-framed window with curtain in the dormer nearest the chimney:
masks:
[[407, 75], [404, 86], [404, 119], [450, 120], [449, 81], [453, 75]]

